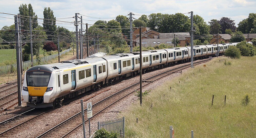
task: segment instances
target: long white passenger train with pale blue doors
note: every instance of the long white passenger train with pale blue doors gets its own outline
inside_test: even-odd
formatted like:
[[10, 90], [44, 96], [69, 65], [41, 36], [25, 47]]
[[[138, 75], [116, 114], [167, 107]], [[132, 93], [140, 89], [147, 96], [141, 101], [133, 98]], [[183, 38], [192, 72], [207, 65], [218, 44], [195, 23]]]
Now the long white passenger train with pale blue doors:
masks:
[[[194, 46], [194, 58], [223, 54], [230, 45], [225, 43]], [[177, 62], [189, 61], [191, 47], [176, 47], [142, 51], [142, 68], [148, 71]], [[139, 73], [139, 52], [113, 54], [102, 57], [69, 60], [62, 63], [39, 65], [25, 73], [22, 96], [27, 106], [42, 108], [61, 103], [119, 79]]]

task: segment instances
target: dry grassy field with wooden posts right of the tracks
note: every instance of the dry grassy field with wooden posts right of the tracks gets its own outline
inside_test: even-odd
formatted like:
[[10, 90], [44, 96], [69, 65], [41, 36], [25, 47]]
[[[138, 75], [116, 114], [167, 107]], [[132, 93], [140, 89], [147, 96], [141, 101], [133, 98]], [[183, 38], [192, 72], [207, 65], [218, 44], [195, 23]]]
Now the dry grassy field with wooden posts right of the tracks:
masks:
[[232, 65], [219, 59], [189, 69], [143, 97], [142, 106], [138, 101], [121, 113], [126, 137], [169, 137], [169, 125], [175, 137], [191, 137], [191, 130], [194, 137], [256, 137], [256, 57], [225, 58]]

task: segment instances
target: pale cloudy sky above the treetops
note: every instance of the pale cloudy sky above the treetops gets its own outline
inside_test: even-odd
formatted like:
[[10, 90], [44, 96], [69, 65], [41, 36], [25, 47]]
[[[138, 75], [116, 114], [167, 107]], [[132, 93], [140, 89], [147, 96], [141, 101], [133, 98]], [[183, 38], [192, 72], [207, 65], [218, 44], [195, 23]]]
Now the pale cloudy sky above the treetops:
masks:
[[[142, 14], [175, 14], [193, 11], [194, 15], [198, 14], [203, 17], [207, 24], [211, 19], [219, 20], [221, 17], [230, 17], [237, 26], [240, 21], [248, 17], [249, 13], [256, 13], [255, 0], [1, 0], [0, 29], [3, 26], [14, 24], [13, 15], [2, 13], [17, 14], [19, 13], [18, 7], [21, 4], [28, 5], [29, 3], [39, 18], [43, 18], [44, 8], [50, 7], [56, 20], [72, 22], [75, 19], [68, 17], [74, 17], [75, 13], [80, 13], [85, 15], [82, 17], [83, 23], [88, 24], [93, 24], [97, 20], [109, 21], [115, 19], [118, 15], [126, 16], [130, 12], [135, 14], [134, 18], [138, 19]], [[185, 15], [190, 16], [190, 14]], [[39, 23], [42, 23], [41, 21], [39, 20]], [[70, 31], [75, 30], [71, 23], [62, 22], [57, 25], [66, 27]]]

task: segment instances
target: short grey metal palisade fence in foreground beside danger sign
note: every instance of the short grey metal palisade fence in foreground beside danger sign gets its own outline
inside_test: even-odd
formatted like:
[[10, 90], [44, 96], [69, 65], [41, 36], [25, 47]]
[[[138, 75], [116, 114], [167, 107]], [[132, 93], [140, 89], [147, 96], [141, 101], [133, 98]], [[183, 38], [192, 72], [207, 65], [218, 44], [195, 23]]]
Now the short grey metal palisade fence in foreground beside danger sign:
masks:
[[121, 137], [125, 136], [125, 117], [98, 122], [98, 130], [106, 129], [109, 132], [119, 133]]

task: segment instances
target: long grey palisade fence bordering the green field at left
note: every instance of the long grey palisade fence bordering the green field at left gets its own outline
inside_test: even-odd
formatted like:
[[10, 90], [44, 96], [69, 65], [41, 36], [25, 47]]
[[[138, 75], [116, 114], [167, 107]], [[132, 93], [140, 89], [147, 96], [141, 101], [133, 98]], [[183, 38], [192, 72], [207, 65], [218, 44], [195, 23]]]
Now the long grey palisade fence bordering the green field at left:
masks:
[[[65, 50], [63, 52], [60, 52], [60, 56], [62, 54], [66, 54], [70, 50], [71, 50], [71, 48], [69, 48], [69, 49], [67, 49], [67, 50]], [[58, 58], [58, 54], [41, 57], [41, 62], [46, 62], [46, 61], [52, 60], [54, 58]], [[36, 58], [33, 58], [33, 64], [35, 64], [37, 62], [38, 62], [38, 60]], [[23, 66], [23, 69], [26, 69], [27, 67], [31, 66], [31, 60], [24, 61], [21, 64]], [[11, 65], [0, 66], [0, 75], [8, 74], [10, 72], [13, 73], [13, 72], [16, 72], [16, 71], [17, 71], [17, 64], [16, 63], [11, 64]]]

